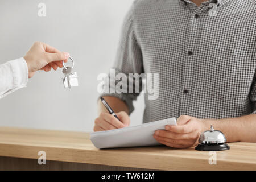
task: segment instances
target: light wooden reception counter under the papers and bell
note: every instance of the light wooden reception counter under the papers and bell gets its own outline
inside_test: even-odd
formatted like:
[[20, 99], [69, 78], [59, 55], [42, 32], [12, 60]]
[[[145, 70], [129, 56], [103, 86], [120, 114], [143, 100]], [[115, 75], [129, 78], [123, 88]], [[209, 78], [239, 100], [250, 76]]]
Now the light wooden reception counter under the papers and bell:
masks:
[[[0, 169], [256, 170], [256, 143], [229, 146], [228, 151], [218, 151], [217, 164], [210, 165], [209, 152], [194, 148], [98, 150], [88, 133], [0, 127]], [[46, 152], [47, 168], [38, 164], [39, 151]], [[71, 167], [64, 168], [65, 163]]]

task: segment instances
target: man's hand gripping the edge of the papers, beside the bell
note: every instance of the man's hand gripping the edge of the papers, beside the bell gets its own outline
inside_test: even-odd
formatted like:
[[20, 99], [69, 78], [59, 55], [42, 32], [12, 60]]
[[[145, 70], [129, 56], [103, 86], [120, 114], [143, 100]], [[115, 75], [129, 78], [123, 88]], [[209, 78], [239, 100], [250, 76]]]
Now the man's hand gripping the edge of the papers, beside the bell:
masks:
[[169, 147], [189, 148], [196, 146], [200, 134], [205, 130], [203, 119], [181, 115], [177, 125], [166, 125], [166, 130], [156, 130], [154, 138]]

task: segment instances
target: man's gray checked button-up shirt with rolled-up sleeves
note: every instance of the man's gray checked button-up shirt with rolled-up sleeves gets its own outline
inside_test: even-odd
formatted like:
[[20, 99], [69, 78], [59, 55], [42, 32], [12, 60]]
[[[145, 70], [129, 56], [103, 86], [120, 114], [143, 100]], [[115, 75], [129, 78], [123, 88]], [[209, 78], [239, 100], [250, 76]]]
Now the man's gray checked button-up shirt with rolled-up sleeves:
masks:
[[[159, 73], [143, 122], [256, 114], [256, 5], [251, 0], [137, 0], [127, 14], [116, 73]], [[102, 94], [125, 101], [138, 94]]]

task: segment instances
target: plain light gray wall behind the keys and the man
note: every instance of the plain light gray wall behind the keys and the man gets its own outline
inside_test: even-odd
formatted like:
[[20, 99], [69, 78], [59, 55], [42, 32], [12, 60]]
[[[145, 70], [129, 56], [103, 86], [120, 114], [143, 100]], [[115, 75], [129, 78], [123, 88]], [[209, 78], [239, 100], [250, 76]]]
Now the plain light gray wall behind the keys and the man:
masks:
[[[38, 4], [46, 4], [46, 17]], [[0, 125], [92, 131], [97, 117], [97, 76], [107, 73], [117, 51], [123, 18], [132, 0], [0, 0], [0, 64], [24, 56], [36, 40], [71, 53], [79, 87], [64, 89], [61, 69], [38, 72], [27, 88], [0, 100]], [[131, 125], [142, 122], [135, 102]]]

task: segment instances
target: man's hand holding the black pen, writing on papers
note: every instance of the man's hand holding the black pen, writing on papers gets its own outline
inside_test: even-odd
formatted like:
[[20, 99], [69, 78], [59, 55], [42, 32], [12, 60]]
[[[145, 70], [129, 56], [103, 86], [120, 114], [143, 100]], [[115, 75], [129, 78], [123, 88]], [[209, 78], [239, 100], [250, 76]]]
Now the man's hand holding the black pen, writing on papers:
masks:
[[94, 131], [105, 131], [120, 129], [122, 127], [128, 127], [130, 125], [129, 115], [125, 111], [121, 111], [117, 114], [117, 117], [121, 120], [119, 121], [113, 115], [109, 113], [102, 112], [98, 118], [95, 119]]

